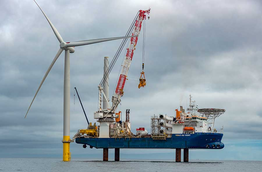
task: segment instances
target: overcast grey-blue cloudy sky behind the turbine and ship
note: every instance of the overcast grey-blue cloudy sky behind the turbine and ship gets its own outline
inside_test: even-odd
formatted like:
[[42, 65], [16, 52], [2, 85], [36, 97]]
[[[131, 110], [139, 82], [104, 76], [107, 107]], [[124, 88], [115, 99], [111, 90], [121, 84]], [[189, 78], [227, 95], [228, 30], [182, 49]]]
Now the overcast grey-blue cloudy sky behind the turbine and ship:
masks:
[[[138, 89], [142, 33], [119, 110], [130, 109], [132, 131], [150, 116], [174, 116], [189, 94], [199, 108], [224, 108], [215, 128], [224, 126], [225, 148], [192, 150], [190, 159], [262, 160], [262, 4], [260, 1], [51, 1], [39, 6], [64, 41], [124, 36], [138, 10], [146, 20], [146, 87]], [[31, 109], [24, 115], [56, 52], [56, 39], [33, 0], [3, 0], [0, 6], [0, 157], [61, 157], [64, 52], [56, 61]], [[95, 122], [103, 60], [114, 57], [121, 40], [76, 47], [70, 54], [70, 136]], [[109, 76], [113, 95], [124, 52]], [[75, 102], [75, 104], [74, 104]], [[72, 158], [102, 157], [102, 150], [71, 144]], [[111, 152], [111, 151], [110, 151]], [[253, 152], [250, 154], [250, 152]], [[174, 150], [121, 150], [159, 159]], [[140, 155], [141, 157], [143, 155]]]

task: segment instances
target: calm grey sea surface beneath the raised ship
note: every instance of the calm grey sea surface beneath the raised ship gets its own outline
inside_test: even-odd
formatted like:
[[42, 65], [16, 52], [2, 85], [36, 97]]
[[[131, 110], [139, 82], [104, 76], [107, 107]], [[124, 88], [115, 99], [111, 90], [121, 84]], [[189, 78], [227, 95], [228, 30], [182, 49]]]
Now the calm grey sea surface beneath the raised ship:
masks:
[[71, 162], [63, 162], [61, 158], [0, 158], [0, 172], [4, 171], [92, 171], [92, 172], [258, 172], [262, 170], [262, 161], [205, 161], [194, 160], [188, 163], [160, 161], [91, 161], [85, 158], [73, 159]]

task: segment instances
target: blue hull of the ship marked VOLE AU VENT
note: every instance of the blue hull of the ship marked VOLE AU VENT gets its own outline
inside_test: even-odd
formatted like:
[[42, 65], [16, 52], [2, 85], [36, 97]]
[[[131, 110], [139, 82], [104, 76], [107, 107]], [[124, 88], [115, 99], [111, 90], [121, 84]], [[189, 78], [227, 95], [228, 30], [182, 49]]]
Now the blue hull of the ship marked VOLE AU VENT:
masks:
[[91, 148], [128, 148], [128, 149], [223, 149], [222, 133], [172, 134], [166, 140], [154, 140], [151, 137], [141, 138], [76, 138], [78, 144]]

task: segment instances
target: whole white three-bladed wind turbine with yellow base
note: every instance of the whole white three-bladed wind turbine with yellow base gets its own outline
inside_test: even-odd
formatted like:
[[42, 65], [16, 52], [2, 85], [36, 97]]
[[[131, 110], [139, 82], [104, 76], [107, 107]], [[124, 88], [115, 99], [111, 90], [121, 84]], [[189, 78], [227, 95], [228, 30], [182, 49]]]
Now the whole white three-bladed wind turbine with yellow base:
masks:
[[[35, 0], [34, 0], [35, 1]], [[36, 1], [35, 1], [36, 3]], [[36, 5], [40, 8], [40, 6], [36, 3]], [[40, 10], [43, 12], [43, 10], [40, 8]], [[48, 73], [52, 69], [54, 63], [56, 62], [56, 59], [58, 59], [59, 55], [62, 53], [63, 50], [65, 50], [65, 73], [64, 73], [64, 117], [63, 117], [63, 161], [70, 161], [71, 159], [71, 153], [70, 153], [70, 59], [69, 59], [69, 53], [75, 52], [75, 46], [82, 46], [82, 45], [88, 45], [88, 44], [95, 44], [98, 42], [104, 42], [104, 41], [111, 41], [115, 39], [123, 39], [123, 38], [129, 38], [129, 37], [136, 37], [129, 36], [129, 37], [115, 37], [115, 38], [103, 38], [103, 39], [92, 39], [92, 40], [84, 40], [84, 41], [76, 41], [76, 42], [64, 42], [63, 38], [59, 34], [59, 32], [56, 30], [54, 25], [51, 23], [49, 18], [45, 15], [43, 12], [45, 18], [47, 19], [48, 23], [50, 24], [52, 30], [54, 31], [54, 34], [56, 35], [58, 41], [60, 42], [60, 48], [58, 52], [56, 53], [56, 56], [54, 57], [54, 60], [52, 61], [51, 65], [47, 69], [44, 78], [42, 79], [36, 94], [26, 112], [26, 115], [36, 98], [36, 95], [38, 91], [40, 90], [43, 82], [45, 81], [45, 78], [47, 77]], [[25, 115], [25, 117], [26, 117]]]

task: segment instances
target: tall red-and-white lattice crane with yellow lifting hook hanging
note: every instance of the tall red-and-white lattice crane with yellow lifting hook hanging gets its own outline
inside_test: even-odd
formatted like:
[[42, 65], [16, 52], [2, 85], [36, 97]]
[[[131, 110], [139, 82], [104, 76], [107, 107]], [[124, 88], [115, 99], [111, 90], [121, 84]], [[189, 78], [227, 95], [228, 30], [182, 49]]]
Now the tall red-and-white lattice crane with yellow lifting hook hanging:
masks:
[[[116, 63], [116, 60], [118, 58], [118, 56], [120, 55], [125, 43], [127, 42], [128, 39], [123, 39], [121, 45], [119, 46], [116, 55], [114, 56], [114, 58], [112, 59], [111, 63], [109, 66], [107, 66], [107, 70], [104, 71], [104, 77], [102, 79], [102, 81], [100, 82], [98, 89], [99, 89], [99, 93], [98, 93], [98, 98], [99, 98], [99, 102], [98, 102], [98, 111], [96, 111], [94, 113], [94, 118], [98, 119], [98, 122], [100, 122], [100, 129], [101, 129], [101, 125], [105, 126], [105, 128], [107, 128], [106, 126], [108, 124], [102, 124], [101, 122], [104, 123], [110, 123], [112, 120], [114, 120], [114, 115], [115, 111], [118, 107], [118, 104], [121, 102], [121, 97], [124, 94], [124, 86], [125, 86], [125, 81], [128, 77], [128, 71], [130, 68], [130, 64], [134, 55], [134, 50], [135, 47], [137, 45], [137, 40], [138, 40], [138, 35], [140, 33], [141, 30], [141, 26], [142, 26], [142, 21], [146, 19], [146, 14], [148, 14], [148, 19], [149, 19], [149, 13], [150, 13], [150, 8], [148, 10], [139, 10], [139, 12], [137, 13], [136, 17], [134, 18], [128, 32], [126, 35], [137, 35], [137, 37], [132, 37], [128, 43], [128, 47], [126, 49], [126, 55], [124, 57], [123, 60], [123, 65], [122, 65], [122, 69], [121, 69], [121, 73], [119, 75], [119, 79], [117, 82], [117, 86], [116, 86], [116, 90], [115, 93], [112, 96], [112, 105], [110, 105], [109, 103], [109, 99], [108, 99], [108, 93], [105, 94], [105, 90], [103, 88], [103, 86], [105, 86], [105, 82], [108, 81], [108, 75], [111, 72], [114, 64]], [[145, 27], [145, 25], [144, 25]], [[144, 41], [143, 41], [143, 63], [144, 63]], [[143, 64], [144, 66], [144, 64]], [[105, 69], [105, 68], [104, 68]], [[144, 75], [144, 73], [143, 73]], [[144, 79], [144, 84], [143, 86], [146, 84], [145, 83], [145, 78], [140, 78], [140, 79]], [[104, 97], [104, 99], [102, 99], [102, 95]], [[102, 108], [102, 101], [106, 102], [106, 108]], [[104, 106], [104, 104], [103, 104]], [[107, 133], [107, 132], [106, 132]]]

